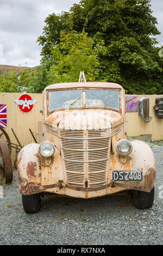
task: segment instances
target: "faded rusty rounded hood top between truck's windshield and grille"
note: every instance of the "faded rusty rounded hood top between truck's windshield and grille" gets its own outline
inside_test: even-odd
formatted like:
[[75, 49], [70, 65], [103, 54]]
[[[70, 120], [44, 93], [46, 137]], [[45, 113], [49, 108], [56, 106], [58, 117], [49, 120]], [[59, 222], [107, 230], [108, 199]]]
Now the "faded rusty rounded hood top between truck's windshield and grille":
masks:
[[106, 109], [71, 109], [48, 115], [45, 123], [60, 129], [105, 129], [123, 122], [120, 113]]

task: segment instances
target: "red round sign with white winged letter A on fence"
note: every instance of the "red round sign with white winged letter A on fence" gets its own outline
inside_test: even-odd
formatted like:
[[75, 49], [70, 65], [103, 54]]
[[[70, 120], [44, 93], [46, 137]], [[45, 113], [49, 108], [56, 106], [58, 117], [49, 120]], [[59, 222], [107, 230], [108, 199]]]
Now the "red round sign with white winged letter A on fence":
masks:
[[32, 111], [35, 103], [37, 102], [37, 100], [33, 100], [29, 94], [23, 94], [18, 100], [14, 101], [18, 105], [20, 111], [22, 111], [23, 113], [29, 113], [30, 111]]

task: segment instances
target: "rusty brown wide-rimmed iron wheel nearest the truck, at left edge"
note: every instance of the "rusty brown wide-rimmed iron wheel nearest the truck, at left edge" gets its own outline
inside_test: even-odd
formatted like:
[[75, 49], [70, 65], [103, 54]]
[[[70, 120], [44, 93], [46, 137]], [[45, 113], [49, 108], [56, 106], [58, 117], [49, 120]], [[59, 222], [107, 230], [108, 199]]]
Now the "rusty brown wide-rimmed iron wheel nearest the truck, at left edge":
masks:
[[0, 139], [0, 169], [6, 183], [11, 183], [13, 178], [12, 162], [8, 143]]

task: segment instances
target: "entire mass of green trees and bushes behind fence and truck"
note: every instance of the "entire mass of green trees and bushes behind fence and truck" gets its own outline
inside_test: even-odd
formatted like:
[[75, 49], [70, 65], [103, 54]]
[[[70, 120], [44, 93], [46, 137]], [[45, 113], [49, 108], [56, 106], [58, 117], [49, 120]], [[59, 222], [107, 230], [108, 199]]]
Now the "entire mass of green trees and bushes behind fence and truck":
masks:
[[38, 38], [41, 65], [35, 74], [0, 76], [2, 92], [41, 93], [51, 83], [120, 83], [128, 94], [163, 93], [163, 58], [150, 0], [81, 0], [68, 12], [51, 14]]

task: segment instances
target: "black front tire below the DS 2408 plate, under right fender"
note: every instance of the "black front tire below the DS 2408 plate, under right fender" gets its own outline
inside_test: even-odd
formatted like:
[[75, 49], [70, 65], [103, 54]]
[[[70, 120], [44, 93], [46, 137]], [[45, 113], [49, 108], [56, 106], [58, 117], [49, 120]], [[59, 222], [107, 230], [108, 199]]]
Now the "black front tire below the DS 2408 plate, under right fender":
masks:
[[131, 190], [131, 198], [137, 209], [148, 209], [153, 206], [154, 202], [154, 187], [151, 192]]

